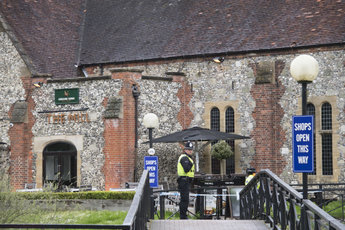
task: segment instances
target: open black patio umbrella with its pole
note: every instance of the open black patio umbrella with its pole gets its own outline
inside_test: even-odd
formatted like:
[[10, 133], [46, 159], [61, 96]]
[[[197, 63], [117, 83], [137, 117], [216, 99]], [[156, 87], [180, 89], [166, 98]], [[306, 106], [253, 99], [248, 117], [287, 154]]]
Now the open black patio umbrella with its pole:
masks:
[[[225, 133], [216, 130], [210, 130], [200, 127], [193, 127], [185, 129], [179, 132], [171, 133], [163, 137], [155, 138], [152, 140], [153, 143], [174, 143], [174, 142], [195, 142], [195, 161], [196, 171], [199, 171], [199, 152], [207, 146], [211, 141], [217, 140], [239, 140], [249, 139], [250, 137], [241, 136], [233, 133]], [[198, 142], [207, 141], [200, 148], [198, 148]]]

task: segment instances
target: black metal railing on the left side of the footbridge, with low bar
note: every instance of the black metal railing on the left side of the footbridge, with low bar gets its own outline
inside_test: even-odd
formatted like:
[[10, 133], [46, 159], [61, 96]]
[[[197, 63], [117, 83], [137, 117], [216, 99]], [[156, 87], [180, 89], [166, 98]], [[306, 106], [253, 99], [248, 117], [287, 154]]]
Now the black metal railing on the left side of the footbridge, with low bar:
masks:
[[132, 204], [122, 225], [92, 224], [0, 224], [0, 228], [13, 229], [121, 229], [146, 230], [151, 216], [150, 189], [148, 171], [144, 170], [136, 189]]

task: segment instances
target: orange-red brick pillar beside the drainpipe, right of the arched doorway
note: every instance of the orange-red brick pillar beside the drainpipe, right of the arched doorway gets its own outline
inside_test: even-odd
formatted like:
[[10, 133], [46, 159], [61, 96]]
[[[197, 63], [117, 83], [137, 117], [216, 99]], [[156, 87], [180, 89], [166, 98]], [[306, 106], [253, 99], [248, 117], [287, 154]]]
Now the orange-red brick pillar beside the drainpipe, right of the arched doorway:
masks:
[[[105, 176], [105, 190], [123, 187], [127, 181], [133, 181], [136, 160], [135, 149], [135, 100], [132, 86], [138, 73], [113, 73], [113, 79], [123, 80], [119, 96], [123, 97], [122, 118], [104, 119], [104, 155], [103, 173]], [[105, 99], [105, 106], [107, 99]]]

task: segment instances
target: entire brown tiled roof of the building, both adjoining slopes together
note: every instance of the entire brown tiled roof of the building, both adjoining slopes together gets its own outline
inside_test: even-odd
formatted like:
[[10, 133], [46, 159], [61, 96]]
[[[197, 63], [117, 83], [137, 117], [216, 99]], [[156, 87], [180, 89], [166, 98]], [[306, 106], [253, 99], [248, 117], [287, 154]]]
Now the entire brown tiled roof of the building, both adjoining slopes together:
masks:
[[32, 72], [54, 78], [78, 76], [75, 64], [345, 43], [344, 0], [2, 0], [0, 14]]

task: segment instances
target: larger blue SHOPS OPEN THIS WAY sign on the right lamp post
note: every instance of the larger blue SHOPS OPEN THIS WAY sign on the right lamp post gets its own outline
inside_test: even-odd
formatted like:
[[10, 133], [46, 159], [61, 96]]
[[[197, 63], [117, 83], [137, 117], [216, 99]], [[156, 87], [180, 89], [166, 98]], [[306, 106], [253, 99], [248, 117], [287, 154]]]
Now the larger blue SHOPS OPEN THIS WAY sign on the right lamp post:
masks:
[[294, 172], [314, 171], [314, 120], [313, 116], [292, 118], [292, 159]]

